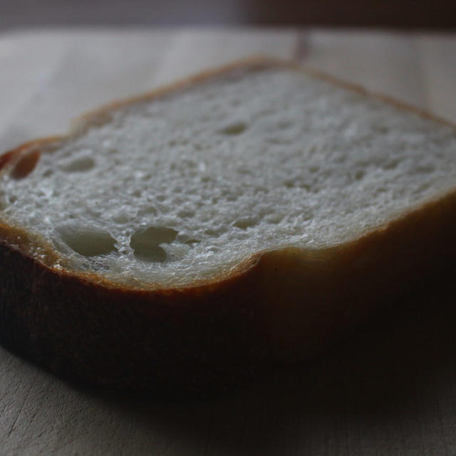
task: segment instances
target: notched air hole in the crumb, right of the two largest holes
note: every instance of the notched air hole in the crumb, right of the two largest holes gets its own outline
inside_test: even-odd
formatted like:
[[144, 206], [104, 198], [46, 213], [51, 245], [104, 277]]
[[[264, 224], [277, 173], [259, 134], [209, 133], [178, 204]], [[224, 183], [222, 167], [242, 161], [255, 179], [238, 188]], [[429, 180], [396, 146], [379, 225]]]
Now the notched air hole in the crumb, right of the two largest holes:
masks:
[[167, 255], [160, 244], [170, 244], [177, 234], [179, 232], [175, 229], [167, 227], [138, 229], [130, 238], [130, 247], [137, 259], [161, 263], [167, 259]]

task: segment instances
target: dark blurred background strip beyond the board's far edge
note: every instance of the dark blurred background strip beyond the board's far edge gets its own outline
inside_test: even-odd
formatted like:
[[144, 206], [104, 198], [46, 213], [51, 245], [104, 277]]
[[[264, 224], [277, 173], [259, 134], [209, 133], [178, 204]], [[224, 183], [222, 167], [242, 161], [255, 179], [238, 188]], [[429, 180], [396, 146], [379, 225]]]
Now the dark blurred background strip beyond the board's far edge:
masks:
[[454, 0], [0, 0], [0, 31], [36, 26], [376, 26], [456, 29]]

